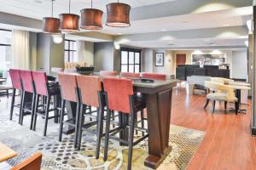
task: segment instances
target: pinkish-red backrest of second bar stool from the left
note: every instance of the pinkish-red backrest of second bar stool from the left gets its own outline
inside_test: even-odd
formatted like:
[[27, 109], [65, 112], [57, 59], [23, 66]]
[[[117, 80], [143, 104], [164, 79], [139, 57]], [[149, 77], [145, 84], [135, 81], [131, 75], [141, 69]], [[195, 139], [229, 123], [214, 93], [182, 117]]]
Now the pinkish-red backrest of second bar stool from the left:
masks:
[[32, 78], [32, 71], [22, 71], [20, 70], [20, 79], [22, 88], [24, 91], [33, 93], [33, 78]]

